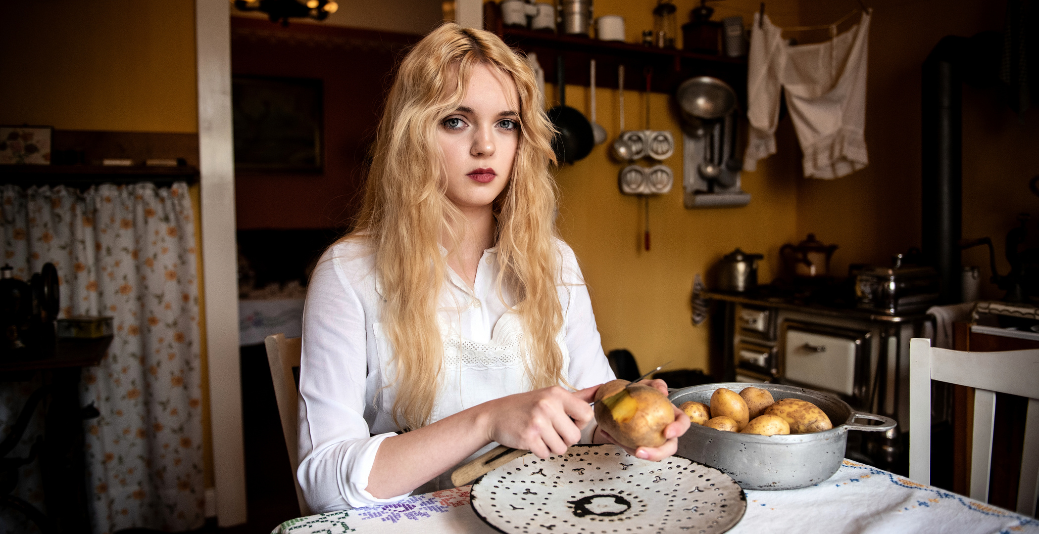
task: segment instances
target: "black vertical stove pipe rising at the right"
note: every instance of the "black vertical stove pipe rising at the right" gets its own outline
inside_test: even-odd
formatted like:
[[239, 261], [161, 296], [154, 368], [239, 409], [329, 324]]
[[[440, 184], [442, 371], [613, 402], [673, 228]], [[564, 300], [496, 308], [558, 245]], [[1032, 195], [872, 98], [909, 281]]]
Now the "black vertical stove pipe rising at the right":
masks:
[[962, 59], [966, 37], [947, 36], [923, 67], [922, 252], [941, 279], [939, 304], [961, 302]]

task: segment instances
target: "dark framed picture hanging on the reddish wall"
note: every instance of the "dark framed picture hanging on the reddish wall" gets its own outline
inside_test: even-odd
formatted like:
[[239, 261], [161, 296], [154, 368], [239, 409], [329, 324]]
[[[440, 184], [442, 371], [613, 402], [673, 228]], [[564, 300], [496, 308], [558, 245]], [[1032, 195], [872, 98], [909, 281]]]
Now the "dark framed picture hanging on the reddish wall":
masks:
[[235, 168], [321, 172], [321, 80], [234, 76]]

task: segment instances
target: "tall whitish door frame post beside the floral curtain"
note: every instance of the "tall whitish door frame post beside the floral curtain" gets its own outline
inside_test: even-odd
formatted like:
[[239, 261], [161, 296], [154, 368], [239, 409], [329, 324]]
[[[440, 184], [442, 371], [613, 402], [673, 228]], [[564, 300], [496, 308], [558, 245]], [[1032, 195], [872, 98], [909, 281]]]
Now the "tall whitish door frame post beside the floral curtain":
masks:
[[231, 8], [195, 0], [203, 294], [209, 365], [216, 514], [220, 527], [246, 521], [245, 454], [238, 339], [238, 254], [231, 112]]

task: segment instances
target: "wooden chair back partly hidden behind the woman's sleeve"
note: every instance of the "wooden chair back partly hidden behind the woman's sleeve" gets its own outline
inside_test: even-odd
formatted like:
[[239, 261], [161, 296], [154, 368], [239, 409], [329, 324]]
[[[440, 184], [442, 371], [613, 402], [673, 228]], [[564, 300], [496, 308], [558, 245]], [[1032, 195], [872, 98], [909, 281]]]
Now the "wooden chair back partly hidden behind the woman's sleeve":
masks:
[[274, 334], [264, 338], [264, 344], [267, 346], [267, 363], [270, 364], [270, 378], [274, 384], [277, 413], [282, 418], [285, 448], [289, 450], [289, 463], [292, 467], [292, 482], [296, 486], [296, 499], [299, 501], [299, 514], [310, 515], [311, 509], [303, 501], [303, 490], [299, 487], [299, 480], [296, 479], [296, 469], [299, 467], [296, 434], [299, 429], [299, 388], [296, 386], [293, 369], [299, 369], [302, 338], [287, 338], [285, 334]]

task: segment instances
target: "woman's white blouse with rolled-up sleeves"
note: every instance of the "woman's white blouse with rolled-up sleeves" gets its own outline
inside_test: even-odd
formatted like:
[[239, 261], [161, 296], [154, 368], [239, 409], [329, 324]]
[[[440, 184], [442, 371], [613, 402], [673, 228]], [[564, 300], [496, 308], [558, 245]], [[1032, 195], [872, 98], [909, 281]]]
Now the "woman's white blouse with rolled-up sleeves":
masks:
[[[583, 389], [614, 375], [603, 354], [574, 251], [563, 242], [559, 251], [563, 330], [557, 341], [564, 378]], [[504, 289], [500, 298], [496, 284], [497, 249], [484, 251], [472, 289], [448, 271], [437, 310], [444, 339], [442, 382], [430, 423], [531, 389], [523, 368], [522, 321], [509, 311], [514, 301]], [[377, 499], [365, 489], [379, 444], [399, 430], [391, 415], [397, 388], [384, 388], [394, 369], [392, 346], [381, 325], [382, 302], [374, 258], [366, 245], [352, 240], [325, 251], [307, 291], [299, 372], [296, 477], [315, 513], [392, 503], [409, 495]], [[584, 441], [594, 426], [585, 429]], [[416, 491], [451, 487], [451, 471]]]

